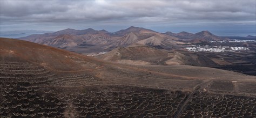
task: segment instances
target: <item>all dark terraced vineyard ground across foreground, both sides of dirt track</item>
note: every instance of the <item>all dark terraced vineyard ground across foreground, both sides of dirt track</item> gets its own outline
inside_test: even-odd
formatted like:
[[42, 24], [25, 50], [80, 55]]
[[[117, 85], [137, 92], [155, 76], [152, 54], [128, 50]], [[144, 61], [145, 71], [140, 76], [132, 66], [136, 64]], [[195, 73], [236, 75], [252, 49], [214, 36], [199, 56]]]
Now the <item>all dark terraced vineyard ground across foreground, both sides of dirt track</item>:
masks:
[[256, 116], [255, 97], [101, 84], [29, 62], [2, 61], [0, 67], [0, 117]]

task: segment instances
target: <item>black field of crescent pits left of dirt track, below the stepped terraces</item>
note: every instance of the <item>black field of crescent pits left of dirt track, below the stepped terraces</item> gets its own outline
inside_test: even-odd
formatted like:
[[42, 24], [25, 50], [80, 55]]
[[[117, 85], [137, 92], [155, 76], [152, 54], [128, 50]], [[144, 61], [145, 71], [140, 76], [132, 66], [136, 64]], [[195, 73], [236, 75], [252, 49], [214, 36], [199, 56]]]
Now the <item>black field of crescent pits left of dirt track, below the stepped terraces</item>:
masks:
[[1, 117], [171, 117], [186, 97], [163, 90], [60, 93], [54, 87], [0, 85]]

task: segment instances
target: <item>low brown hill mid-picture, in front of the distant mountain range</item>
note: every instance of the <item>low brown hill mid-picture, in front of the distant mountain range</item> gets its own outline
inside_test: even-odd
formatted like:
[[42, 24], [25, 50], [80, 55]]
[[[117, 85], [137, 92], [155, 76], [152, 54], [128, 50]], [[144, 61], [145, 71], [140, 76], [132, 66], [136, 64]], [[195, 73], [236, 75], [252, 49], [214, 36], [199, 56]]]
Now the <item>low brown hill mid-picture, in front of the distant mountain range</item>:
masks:
[[[115, 48], [100, 56], [100, 59], [132, 65], [197, 65], [197, 55], [187, 55], [179, 51], [167, 52], [147, 45], [134, 43], [127, 47]], [[196, 56], [196, 57], [192, 57]]]

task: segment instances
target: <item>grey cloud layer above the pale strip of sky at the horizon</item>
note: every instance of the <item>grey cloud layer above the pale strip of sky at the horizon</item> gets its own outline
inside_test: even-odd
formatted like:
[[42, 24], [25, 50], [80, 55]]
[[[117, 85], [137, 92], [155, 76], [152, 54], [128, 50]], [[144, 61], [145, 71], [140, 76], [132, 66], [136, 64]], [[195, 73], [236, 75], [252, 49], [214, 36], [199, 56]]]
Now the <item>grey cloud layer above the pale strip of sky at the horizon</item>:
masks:
[[249, 24], [256, 1], [0, 1], [1, 25]]

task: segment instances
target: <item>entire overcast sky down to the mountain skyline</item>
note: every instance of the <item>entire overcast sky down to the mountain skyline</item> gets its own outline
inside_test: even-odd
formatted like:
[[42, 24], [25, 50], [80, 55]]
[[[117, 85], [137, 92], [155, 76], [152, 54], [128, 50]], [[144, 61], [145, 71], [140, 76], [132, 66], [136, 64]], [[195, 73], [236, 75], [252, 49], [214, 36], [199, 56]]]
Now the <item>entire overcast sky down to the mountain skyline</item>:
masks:
[[256, 35], [256, 1], [6, 1], [1, 0], [1, 32], [106, 29], [130, 26], [158, 32]]

